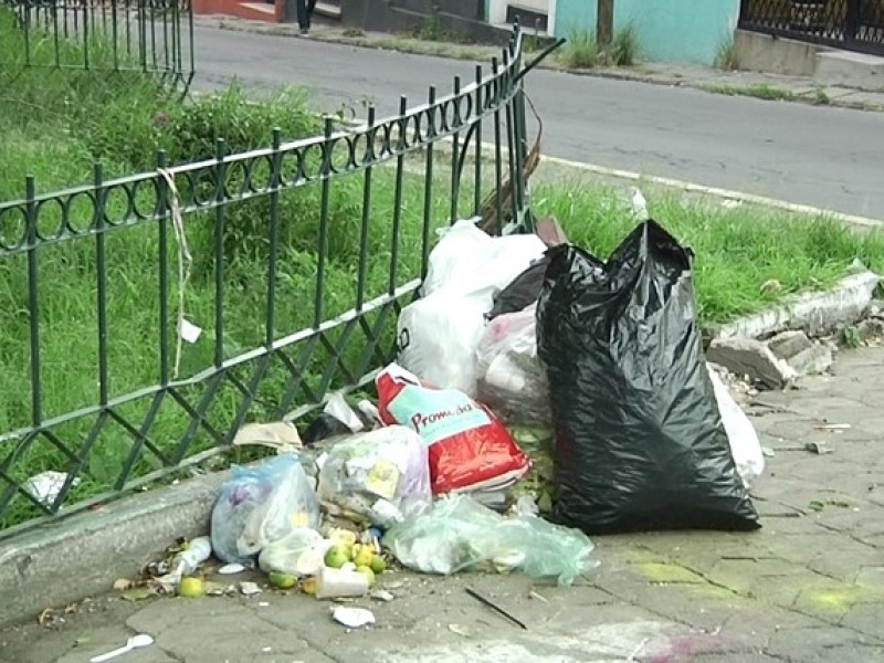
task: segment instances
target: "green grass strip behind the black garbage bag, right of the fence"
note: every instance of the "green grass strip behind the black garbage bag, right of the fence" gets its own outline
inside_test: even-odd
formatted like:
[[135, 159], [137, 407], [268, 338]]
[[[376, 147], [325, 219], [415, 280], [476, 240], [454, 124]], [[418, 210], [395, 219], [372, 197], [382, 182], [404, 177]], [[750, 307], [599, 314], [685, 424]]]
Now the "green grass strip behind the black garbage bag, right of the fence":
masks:
[[[538, 187], [539, 214], [555, 214], [569, 238], [607, 257], [633, 227], [622, 194], [610, 189]], [[884, 273], [884, 234], [857, 233], [829, 218], [743, 206], [688, 204], [680, 196], [652, 199], [651, 213], [696, 253], [695, 287], [703, 325], [754, 313], [804, 290], [832, 285], [854, 259]], [[782, 291], [765, 292], [770, 280]]]

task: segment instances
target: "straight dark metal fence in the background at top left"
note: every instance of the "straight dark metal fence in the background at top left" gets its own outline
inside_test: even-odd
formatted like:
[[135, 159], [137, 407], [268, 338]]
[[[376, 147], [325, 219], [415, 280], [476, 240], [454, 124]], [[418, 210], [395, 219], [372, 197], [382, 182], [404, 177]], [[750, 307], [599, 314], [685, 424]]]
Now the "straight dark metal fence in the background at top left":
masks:
[[144, 72], [186, 87], [193, 77], [190, 0], [0, 0], [4, 9], [20, 44], [0, 64]]

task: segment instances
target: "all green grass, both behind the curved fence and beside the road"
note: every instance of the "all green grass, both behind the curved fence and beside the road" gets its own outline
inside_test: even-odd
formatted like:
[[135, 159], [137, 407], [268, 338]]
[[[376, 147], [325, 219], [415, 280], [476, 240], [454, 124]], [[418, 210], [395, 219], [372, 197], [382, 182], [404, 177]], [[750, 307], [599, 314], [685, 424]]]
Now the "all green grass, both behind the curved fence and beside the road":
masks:
[[[2, 24], [0, 24], [2, 29]], [[0, 32], [0, 46], [4, 43]], [[8, 77], [4, 77], [8, 76]], [[314, 135], [318, 120], [309, 113], [306, 98], [283, 91], [261, 104], [248, 103], [232, 87], [219, 97], [181, 104], [141, 77], [117, 73], [94, 75], [76, 72], [33, 71], [9, 75], [0, 71], [0, 201], [23, 194], [24, 176], [33, 175], [41, 191], [87, 183], [93, 162], [101, 158], [108, 173], [124, 175], [151, 169], [156, 151], [165, 149], [172, 161], [213, 155], [215, 140], [225, 138], [231, 149], [266, 145], [271, 127], [280, 126], [286, 138]], [[36, 113], [51, 110], [49, 113]], [[409, 160], [417, 166], [419, 159]], [[486, 169], [486, 175], [491, 173]], [[266, 173], [259, 168], [256, 176]], [[430, 229], [443, 225], [450, 206], [450, 167], [440, 156], [429, 201]], [[242, 173], [231, 173], [238, 180]], [[373, 171], [369, 208], [365, 294], [366, 299], [383, 295], [390, 286], [420, 276], [423, 252], [425, 192], [423, 173], [409, 170], [402, 178], [401, 200], [394, 198], [396, 173], [388, 168]], [[235, 183], [235, 182], [234, 182]], [[329, 190], [328, 253], [319, 301], [322, 319], [328, 320], [355, 305], [360, 233], [362, 231], [364, 180], [361, 176], [336, 178]], [[472, 189], [464, 185], [461, 208], [467, 212]], [[539, 214], [556, 214], [571, 239], [604, 257], [632, 229], [629, 210], [618, 191], [586, 183], [536, 187], [534, 199]], [[154, 203], [150, 191], [136, 196], [139, 208]], [[128, 201], [117, 192], [107, 193], [110, 219], [126, 217]], [[278, 200], [281, 249], [275, 281], [276, 338], [309, 328], [317, 301], [320, 191], [316, 185], [286, 190]], [[756, 311], [777, 295], [761, 285], [778, 280], [783, 293], [822, 287], [843, 275], [850, 262], [860, 257], [873, 269], [884, 270], [884, 240], [880, 234], [854, 234], [824, 219], [771, 213], [760, 208], [724, 210], [685, 206], [678, 198], [652, 198], [657, 220], [697, 253], [696, 288], [704, 323], [724, 322]], [[401, 228], [394, 240], [392, 219], [399, 210]], [[85, 228], [91, 210], [83, 200], [69, 210], [72, 225]], [[224, 234], [220, 245], [223, 273], [223, 352], [233, 357], [260, 347], [266, 335], [267, 197], [232, 203], [224, 208]], [[41, 210], [39, 228], [51, 235], [59, 227], [57, 208]], [[193, 275], [185, 292], [187, 318], [204, 329], [199, 341], [183, 346], [181, 375], [196, 376], [212, 366], [215, 328], [215, 215], [194, 213], [186, 219], [188, 244], [193, 254]], [[21, 232], [21, 218], [0, 218], [0, 239], [9, 241]], [[106, 234], [108, 375], [110, 396], [122, 396], [156, 385], [159, 380], [159, 229], [155, 223], [116, 230]], [[175, 316], [177, 306], [177, 249], [170, 234], [167, 304]], [[396, 248], [396, 252], [393, 251]], [[97, 402], [97, 253], [94, 236], [45, 244], [36, 252], [40, 301], [40, 350], [44, 417], [56, 417]], [[31, 422], [30, 327], [28, 313], [28, 267], [23, 254], [0, 253], [0, 434]], [[378, 314], [366, 316], [368, 325]], [[368, 360], [371, 367], [383, 360], [378, 354], [365, 357], [367, 332], [340, 329], [328, 334], [334, 347], [340, 343], [341, 361], [348, 366]], [[169, 325], [175, 338], [173, 322]], [[394, 316], [379, 328], [381, 346], [394, 340]], [[295, 350], [306, 343], [301, 341]], [[316, 389], [333, 359], [333, 347], [318, 345], [303, 366], [308, 387]], [[297, 352], [290, 355], [297, 361]], [[290, 383], [290, 372], [278, 360], [261, 367], [256, 360], [232, 375], [246, 385], [256, 369], [264, 370], [256, 387], [257, 400], [246, 413], [250, 420], [277, 415], [277, 406]], [[347, 379], [339, 371], [333, 387]], [[197, 402], [207, 393], [206, 382], [185, 387], [181, 393]], [[295, 406], [304, 404], [299, 394]], [[242, 400], [233, 383], [220, 387], [207, 410], [207, 420], [222, 429], [235, 421]], [[149, 399], [115, 409], [115, 414], [138, 428], [145, 420]], [[149, 438], [164, 454], [175, 456], [187, 433], [191, 415], [167, 398], [156, 413]], [[57, 440], [73, 453], [80, 451], [96, 415], [87, 415], [53, 428]], [[213, 445], [198, 434], [181, 453], [193, 454]], [[108, 491], [133, 446], [130, 431], [114, 419], [105, 422], [78, 467], [82, 483], [69, 496], [69, 504]], [[0, 461], [14, 449], [3, 442]], [[239, 456], [236, 456], [239, 457]], [[40, 438], [15, 459], [12, 476], [24, 481], [44, 470], [66, 470], [70, 459], [49, 439]], [[133, 475], [144, 476], [161, 463], [141, 450]], [[39, 515], [24, 499], [15, 499], [0, 514], [0, 530]]]

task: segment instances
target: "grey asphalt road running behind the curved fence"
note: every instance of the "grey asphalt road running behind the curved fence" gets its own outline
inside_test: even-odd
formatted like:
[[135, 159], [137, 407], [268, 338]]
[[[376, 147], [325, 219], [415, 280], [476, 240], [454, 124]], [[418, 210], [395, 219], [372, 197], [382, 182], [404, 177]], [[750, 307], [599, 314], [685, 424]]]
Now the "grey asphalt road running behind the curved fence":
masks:
[[[451, 90], [475, 64], [286, 36], [196, 30], [197, 88], [238, 77], [314, 91], [323, 110], [382, 114]], [[535, 71], [548, 155], [884, 219], [884, 113]]]

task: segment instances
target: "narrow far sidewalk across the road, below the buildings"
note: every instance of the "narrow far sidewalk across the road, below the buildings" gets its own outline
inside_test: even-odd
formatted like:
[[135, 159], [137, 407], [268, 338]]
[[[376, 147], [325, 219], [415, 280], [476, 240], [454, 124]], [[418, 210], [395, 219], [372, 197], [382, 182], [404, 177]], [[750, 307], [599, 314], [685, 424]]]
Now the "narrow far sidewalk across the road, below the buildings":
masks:
[[[219, 28], [256, 34], [298, 36], [296, 24], [267, 23], [227, 15], [196, 15], [194, 25]], [[501, 51], [494, 46], [428, 41], [382, 32], [346, 30], [340, 24], [323, 22], [311, 30], [309, 39], [367, 49], [383, 49], [403, 53], [436, 55], [455, 60], [488, 62]], [[530, 60], [530, 54], [526, 57]], [[820, 85], [811, 77], [783, 76], [761, 72], [726, 72], [690, 64], [640, 63], [635, 66], [600, 66], [589, 70], [567, 70], [555, 57], [547, 57], [541, 69], [568, 71], [575, 75], [636, 81], [672, 87], [688, 87], [711, 93], [753, 96], [770, 101], [789, 101], [822, 106], [839, 106], [862, 110], [884, 110], [884, 90], [869, 92], [841, 85]]]

